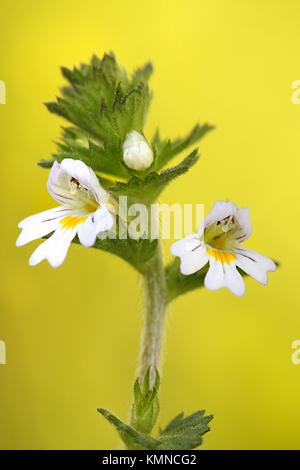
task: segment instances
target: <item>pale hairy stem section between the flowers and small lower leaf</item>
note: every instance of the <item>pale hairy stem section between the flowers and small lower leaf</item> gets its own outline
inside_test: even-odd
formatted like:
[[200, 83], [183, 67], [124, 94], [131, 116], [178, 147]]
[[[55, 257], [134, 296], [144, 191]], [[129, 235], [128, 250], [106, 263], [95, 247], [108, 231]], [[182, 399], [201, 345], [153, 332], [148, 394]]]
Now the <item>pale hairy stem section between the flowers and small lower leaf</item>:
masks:
[[154, 370], [160, 365], [166, 309], [166, 279], [160, 242], [144, 274], [144, 302], [139, 378], [142, 381], [147, 369], [151, 367], [151, 383]]

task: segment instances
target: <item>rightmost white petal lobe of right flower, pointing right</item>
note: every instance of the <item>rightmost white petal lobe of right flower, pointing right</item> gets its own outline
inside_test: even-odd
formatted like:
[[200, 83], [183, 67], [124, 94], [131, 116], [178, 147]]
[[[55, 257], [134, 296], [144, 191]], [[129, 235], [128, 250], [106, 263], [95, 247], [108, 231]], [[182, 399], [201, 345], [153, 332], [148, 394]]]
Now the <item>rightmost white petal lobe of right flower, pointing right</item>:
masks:
[[268, 283], [268, 271], [276, 270], [274, 261], [248, 248], [236, 249], [234, 253], [237, 266], [261, 284], [266, 285]]

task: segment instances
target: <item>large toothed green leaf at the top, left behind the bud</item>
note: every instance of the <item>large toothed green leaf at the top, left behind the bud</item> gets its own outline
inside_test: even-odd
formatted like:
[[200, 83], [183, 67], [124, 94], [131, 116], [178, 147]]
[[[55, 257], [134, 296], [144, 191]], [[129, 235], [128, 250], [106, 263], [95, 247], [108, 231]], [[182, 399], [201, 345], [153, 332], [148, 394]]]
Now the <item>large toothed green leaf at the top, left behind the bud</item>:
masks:
[[94, 56], [89, 64], [72, 70], [63, 67], [68, 85], [46, 106], [72, 127], [63, 131], [54, 159], [76, 158], [95, 171], [128, 177], [122, 143], [132, 129], [143, 130], [152, 98], [151, 72], [151, 64], [146, 64], [130, 78], [112, 54]]

